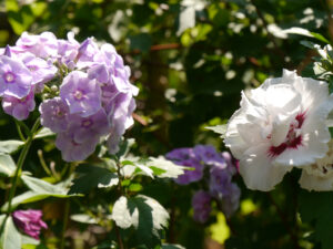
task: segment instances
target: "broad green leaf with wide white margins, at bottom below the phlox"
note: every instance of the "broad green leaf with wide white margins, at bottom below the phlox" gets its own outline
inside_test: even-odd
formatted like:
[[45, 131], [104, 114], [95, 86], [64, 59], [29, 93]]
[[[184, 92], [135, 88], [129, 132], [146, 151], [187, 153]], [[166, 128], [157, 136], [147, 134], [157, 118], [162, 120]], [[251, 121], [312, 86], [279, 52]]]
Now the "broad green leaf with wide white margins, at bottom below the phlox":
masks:
[[122, 196], [113, 206], [112, 219], [120, 228], [133, 227], [137, 241], [153, 248], [161, 240], [161, 230], [168, 226], [169, 214], [157, 200], [148, 196]]

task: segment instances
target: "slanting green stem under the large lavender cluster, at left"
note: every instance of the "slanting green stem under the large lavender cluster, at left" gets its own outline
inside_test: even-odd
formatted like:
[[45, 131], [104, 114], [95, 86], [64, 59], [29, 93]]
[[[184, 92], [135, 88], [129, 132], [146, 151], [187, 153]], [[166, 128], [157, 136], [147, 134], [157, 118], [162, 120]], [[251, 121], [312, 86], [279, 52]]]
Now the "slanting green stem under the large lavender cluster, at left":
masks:
[[16, 174], [12, 178], [11, 189], [10, 189], [10, 193], [9, 193], [8, 209], [7, 209], [8, 214], [11, 211], [11, 201], [12, 201], [12, 198], [14, 197], [14, 195], [16, 195], [18, 179], [19, 179], [19, 176], [21, 175], [24, 159], [27, 157], [27, 154], [28, 154], [29, 148], [31, 146], [31, 143], [33, 141], [34, 133], [37, 132], [37, 129], [39, 127], [39, 124], [40, 124], [40, 120], [38, 118], [36, 121], [36, 123], [33, 124], [33, 126], [31, 128], [31, 132], [30, 132], [30, 135], [29, 135], [28, 139], [26, 141], [26, 145], [24, 145], [24, 147], [21, 151], [21, 154], [19, 156]]

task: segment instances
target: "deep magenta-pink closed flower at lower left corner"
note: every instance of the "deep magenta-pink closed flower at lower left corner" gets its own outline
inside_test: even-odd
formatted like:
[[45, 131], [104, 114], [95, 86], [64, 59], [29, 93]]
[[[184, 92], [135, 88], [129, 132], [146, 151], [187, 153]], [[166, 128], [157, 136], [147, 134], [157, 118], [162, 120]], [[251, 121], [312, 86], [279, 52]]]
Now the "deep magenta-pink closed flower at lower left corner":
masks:
[[40, 230], [48, 229], [48, 225], [42, 221], [42, 211], [28, 209], [17, 210], [12, 214], [16, 226], [26, 235], [39, 240]]

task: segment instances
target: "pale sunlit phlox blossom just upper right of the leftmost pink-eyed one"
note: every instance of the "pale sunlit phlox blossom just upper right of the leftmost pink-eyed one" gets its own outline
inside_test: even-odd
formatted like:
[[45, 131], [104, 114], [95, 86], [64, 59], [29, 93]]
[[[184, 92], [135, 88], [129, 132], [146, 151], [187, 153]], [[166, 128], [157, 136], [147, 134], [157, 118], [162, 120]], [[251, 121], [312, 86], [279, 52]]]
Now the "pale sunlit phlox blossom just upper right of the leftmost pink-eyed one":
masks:
[[51, 61], [37, 58], [32, 53], [22, 54], [21, 60], [32, 74], [32, 84], [46, 83], [52, 80], [58, 72]]

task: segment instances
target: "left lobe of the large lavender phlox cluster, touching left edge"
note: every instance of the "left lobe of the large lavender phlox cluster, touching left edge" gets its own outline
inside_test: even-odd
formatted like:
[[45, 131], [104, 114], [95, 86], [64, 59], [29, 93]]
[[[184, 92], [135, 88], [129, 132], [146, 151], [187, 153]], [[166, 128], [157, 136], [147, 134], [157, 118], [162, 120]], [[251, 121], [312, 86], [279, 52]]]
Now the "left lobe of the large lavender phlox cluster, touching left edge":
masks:
[[[53, 79], [58, 72], [52, 61], [48, 60], [44, 45], [51, 38], [41, 34], [37, 48], [37, 35], [28, 39], [23, 33], [14, 46], [7, 46], [0, 52], [0, 97], [3, 111], [22, 121], [34, 110], [34, 94], [43, 84]], [[43, 56], [40, 56], [40, 53]]]

